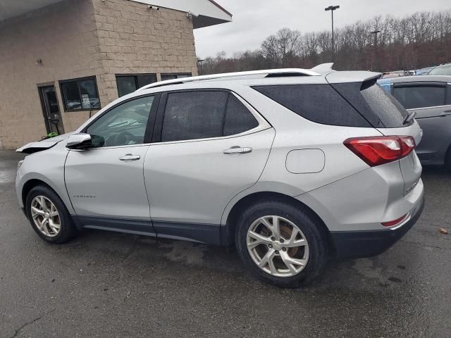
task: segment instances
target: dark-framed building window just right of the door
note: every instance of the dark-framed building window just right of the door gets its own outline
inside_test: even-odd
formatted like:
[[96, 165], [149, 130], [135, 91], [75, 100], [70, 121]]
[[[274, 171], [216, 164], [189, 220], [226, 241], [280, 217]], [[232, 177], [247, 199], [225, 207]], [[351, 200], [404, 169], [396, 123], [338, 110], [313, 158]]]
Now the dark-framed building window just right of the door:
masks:
[[100, 109], [99, 91], [95, 77], [63, 80], [59, 84], [65, 111]]

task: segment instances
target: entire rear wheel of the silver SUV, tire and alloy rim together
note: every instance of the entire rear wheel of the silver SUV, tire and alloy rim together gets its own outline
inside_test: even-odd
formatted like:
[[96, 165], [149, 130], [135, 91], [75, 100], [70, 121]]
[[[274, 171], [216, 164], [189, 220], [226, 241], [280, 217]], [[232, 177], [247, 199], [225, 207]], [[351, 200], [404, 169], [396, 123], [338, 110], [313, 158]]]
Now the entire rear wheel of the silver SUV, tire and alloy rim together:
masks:
[[[266, 216], [271, 217], [266, 218]], [[262, 219], [266, 223], [274, 223], [273, 216], [278, 219], [279, 240], [271, 236], [274, 232], [261, 223]], [[300, 232], [295, 232], [293, 225]], [[292, 229], [291, 233], [290, 229]], [[262, 237], [258, 237], [258, 240], [248, 237], [248, 230], [257, 232]], [[294, 241], [291, 240], [293, 233], [295, 234]], [[253, 234], [253, 236], [255, 235]], [[264, 238], [263, 242], [261, 238]], [[268, 242], [268, 239], [271, 242]], [[276, 239], [276, 242], [273, 239]], [[307, 245], [302, 242], [302, 239], [307, 241]], [[304, 245], [298, 246], [302, 245], [301, 243]], [[259, 202], [247, 208], [240, 215], [235, 232], [235, 244], [242, 262], [252, 275], [277, 287], [306, 286], [323, 272], [328, 258], [328, 240], [327, 234], [323, 231], [323, 225], [319, 224], [319, 221], [308, 210], [278, 200]], [[248, 245], [249, 248], [255, 249], [248, 249]], [[281, 247], [284, 245], [296, 245], [296, 247]], [[261, 258], [260, 263], [263, 264], [267, 255], [273, 257], [272, 267], [268, 261], [264, 268], [260, 268], [259, 258]], [[285, 263], [290, 262], [290, 258], [295, 258], [296, 262], [304, 262], [304, 265]]]

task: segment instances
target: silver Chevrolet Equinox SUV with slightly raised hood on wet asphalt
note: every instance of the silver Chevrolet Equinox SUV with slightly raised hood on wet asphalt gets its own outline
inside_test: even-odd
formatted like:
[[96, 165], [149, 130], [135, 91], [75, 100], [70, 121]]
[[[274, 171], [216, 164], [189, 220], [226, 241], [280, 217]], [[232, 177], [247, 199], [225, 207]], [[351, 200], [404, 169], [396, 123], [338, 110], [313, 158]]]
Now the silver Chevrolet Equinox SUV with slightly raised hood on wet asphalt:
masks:
[[261, 280], [299, 287], [328, 257], [382, 253], [421, 214], [421, 129], [379, 76], [321, 65], [149, 84], [18, 149], [20, 206], [48, 242], [91, 228], [235, 245]]

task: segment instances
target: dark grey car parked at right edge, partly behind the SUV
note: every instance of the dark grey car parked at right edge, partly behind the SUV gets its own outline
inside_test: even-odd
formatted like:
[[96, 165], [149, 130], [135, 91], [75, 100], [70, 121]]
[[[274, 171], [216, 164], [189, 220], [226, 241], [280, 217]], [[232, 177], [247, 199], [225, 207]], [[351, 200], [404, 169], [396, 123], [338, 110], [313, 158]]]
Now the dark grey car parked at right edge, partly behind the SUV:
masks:
[[407, 111], [415, 111], [424, 132], [416, 147], [421, 163], [451, 170], [451, 76], [395, 77], [378, 83]]

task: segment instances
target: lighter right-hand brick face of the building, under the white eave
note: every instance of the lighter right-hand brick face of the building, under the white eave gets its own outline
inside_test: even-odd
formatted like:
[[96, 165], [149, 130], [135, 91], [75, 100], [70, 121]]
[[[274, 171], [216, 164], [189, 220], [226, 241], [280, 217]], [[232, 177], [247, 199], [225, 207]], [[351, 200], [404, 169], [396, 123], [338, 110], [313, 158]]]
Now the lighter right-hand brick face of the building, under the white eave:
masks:
[[101, 64], [101, 101], [118, 98], [116, 74], [197, 75], [192, 21], [185, 12], [125, 0], [93, 0]]

